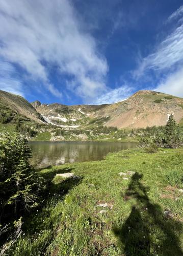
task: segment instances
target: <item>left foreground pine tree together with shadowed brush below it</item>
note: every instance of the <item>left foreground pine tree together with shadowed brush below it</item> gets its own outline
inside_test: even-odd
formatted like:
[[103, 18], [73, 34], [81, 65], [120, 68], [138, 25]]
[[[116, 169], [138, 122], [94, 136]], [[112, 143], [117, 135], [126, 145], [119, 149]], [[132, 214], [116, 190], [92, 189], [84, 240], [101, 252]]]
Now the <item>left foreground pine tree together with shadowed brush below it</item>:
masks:
[[[22, 215], [38, 207], [42, 177], [30, 166], [31, 151], [19, 134], [1, 132], [0, 143], [0, 255], [16, 242], [21, 234]], [[14, 231], [15, 230], [15, 231]], [[14, 234], [11, 234], [14, 233]], [[11, 235], [10, 235], [11, 234]]]

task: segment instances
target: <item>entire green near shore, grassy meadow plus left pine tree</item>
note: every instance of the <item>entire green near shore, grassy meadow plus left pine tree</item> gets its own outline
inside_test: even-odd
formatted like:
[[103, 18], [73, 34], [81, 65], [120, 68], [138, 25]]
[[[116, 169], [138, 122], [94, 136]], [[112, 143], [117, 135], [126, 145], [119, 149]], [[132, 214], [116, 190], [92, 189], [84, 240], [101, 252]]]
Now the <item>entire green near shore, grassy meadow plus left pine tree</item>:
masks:
[[123, 150], [35, 173], [25, 140], [9, 138], [0, 255], [182, 255], [182, 148]]

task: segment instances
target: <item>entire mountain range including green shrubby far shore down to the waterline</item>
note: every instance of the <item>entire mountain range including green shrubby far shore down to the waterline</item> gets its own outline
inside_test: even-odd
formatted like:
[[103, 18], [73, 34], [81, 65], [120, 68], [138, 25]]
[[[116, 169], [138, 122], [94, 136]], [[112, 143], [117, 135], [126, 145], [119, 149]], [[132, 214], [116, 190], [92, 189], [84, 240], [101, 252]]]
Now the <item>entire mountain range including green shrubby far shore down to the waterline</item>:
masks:
[[166, 125], [171, 114], [180, 132], [183, 126], [183, 99], [152, 91], [139, 91], [115, 104], [69, 106], [38, 100], [30, 104], [0, 91], [0, 110], [0, 127], [33, 140], [137, 141], [143, 129]]

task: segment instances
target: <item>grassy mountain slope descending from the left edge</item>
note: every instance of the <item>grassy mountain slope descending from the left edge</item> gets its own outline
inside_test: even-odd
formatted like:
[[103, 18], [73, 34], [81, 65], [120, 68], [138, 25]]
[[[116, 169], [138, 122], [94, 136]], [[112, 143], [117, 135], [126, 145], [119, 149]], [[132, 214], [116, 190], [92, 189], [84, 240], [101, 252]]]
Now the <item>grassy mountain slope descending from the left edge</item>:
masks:
[[42, 116], [23, 97], [0, 90], [0, 117], [9, 116], [14, 122], [18, 118], [43, 123]]

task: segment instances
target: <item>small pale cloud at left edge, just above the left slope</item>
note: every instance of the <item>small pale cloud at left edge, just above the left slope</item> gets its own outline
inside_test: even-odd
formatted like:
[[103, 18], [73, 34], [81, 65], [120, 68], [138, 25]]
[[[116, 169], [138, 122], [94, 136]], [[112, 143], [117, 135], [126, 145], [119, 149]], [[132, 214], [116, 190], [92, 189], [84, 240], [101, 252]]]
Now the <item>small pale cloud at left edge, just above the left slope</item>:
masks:
[[22, 82], [15, 77], [14, 67], [6, 61], [0, 60], [0, 90], [24, 96]]

